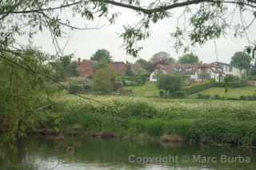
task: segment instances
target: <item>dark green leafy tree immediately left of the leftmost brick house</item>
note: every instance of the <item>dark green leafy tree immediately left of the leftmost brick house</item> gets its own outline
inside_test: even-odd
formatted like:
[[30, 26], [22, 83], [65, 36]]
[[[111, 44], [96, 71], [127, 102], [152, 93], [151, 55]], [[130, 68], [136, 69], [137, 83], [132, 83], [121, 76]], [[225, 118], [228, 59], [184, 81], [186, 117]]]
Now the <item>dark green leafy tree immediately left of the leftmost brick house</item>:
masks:
[[51, 62], [58, 79], [64, 80], [66, 77], [78, 77], [77, 63], [71, 61], [72, 57], [73, 55], [67, 55], [58, 58], [57, 61]]

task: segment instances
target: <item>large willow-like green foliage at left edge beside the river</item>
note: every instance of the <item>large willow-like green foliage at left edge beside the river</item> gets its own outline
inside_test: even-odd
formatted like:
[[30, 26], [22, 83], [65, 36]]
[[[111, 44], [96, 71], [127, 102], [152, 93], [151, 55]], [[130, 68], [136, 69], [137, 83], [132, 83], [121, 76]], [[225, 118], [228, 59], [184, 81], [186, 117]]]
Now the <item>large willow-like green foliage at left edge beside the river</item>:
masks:
[[18, 57], [11, 53], [1, 57], [0, 134], [9, 144], [26, 136], [34, 126], [34, 115], [40, 112], [39, 108], [50, 103], [48, 97], [53, 93], [50, 81], [37, 74], [49, 73], [46, 59], [44, 53], [30, 47]]

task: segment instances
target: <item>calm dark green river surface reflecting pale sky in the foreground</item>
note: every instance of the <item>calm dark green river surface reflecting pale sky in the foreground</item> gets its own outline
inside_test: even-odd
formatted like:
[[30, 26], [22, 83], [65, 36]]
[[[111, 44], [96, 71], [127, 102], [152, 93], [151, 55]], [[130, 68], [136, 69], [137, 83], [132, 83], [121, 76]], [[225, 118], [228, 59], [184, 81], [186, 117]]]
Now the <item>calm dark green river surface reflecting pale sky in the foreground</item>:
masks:
[[256, 149], [38, 137], [0, 150], [0, 169], [256, 169]]

